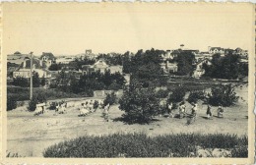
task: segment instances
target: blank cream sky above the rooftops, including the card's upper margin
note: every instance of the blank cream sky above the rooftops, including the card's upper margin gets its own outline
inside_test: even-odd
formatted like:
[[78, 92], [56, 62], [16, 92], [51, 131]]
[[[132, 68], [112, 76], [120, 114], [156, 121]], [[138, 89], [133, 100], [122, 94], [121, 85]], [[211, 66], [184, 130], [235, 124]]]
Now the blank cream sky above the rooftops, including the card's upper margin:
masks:
[[252, 50], [250, 4], [7, 3], [3, 54], [75, 55], [208, 46]]

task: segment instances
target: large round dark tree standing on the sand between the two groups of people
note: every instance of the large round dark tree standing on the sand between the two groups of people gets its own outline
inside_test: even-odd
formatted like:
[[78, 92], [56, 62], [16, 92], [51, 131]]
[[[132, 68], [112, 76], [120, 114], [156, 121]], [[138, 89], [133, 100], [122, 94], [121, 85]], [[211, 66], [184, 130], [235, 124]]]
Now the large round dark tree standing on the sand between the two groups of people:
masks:
[[150, 123], [159, 113], [160, 99], [157, 98], [154, 88], [137, 87], [130, 84], [119, 100], [119, 109], [124, 111], [124, 119], [128, 123]]

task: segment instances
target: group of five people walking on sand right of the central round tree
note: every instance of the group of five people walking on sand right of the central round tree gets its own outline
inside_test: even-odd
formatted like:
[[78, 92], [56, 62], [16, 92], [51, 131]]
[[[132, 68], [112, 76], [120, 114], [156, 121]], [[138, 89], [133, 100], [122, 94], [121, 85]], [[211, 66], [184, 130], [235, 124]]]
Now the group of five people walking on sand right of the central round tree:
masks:
[[[192, 102], [191, 105], [192, 105], [191, 116], [196, 118], [197, 117], [197, 112], [198, 112], [198, 104], [196, 102]], [[186, 105], [185, 105], [184, 101], [182, 101], [179, 104], [178, 110], [179, 110], [179, 118], [180, 119], [182, 119], [182, 118], [187, 116], [188, 113], [187, 113]], [[168, 117], [171, 117], [171, 118], [174, 117], [172, 102], [167, 104], [167, 113], [168, 113]], [[218, 107], [217, 113], [218, 113], [218, 117], [219, 118], [223, 118], [224, 117], [224, 107], [222, 105], [220, 105]], [[206, 114], [207, 114], [207, 119], [211, 119], [213, 117], [212, 105], [208, 104]]]

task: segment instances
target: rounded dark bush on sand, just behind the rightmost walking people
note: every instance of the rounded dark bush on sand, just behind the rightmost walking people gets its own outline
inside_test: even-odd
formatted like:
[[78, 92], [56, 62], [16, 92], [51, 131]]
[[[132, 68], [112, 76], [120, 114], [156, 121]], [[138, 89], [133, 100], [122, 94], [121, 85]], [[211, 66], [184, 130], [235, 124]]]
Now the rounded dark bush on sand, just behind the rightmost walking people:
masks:
[[234, 92], [234, 86], [229, 84], [220, 84], [212, 87], [208, 102], [211, 105], [231, 106], [238, 100], [238, 96]]

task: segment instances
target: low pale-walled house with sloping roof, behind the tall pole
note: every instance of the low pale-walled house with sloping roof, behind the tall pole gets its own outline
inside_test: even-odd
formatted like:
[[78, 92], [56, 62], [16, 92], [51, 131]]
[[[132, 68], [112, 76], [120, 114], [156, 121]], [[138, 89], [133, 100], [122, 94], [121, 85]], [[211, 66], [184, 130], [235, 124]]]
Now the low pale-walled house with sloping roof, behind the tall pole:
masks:
[[[40, 60], [32, 59], [32, 72], [36, 72], [39, 78], [50, 78], [51, 74], [41, 66]], [[18, 70], [13, 72], [13, 78], [31, 78], [31, 59], [25, 58]]]

